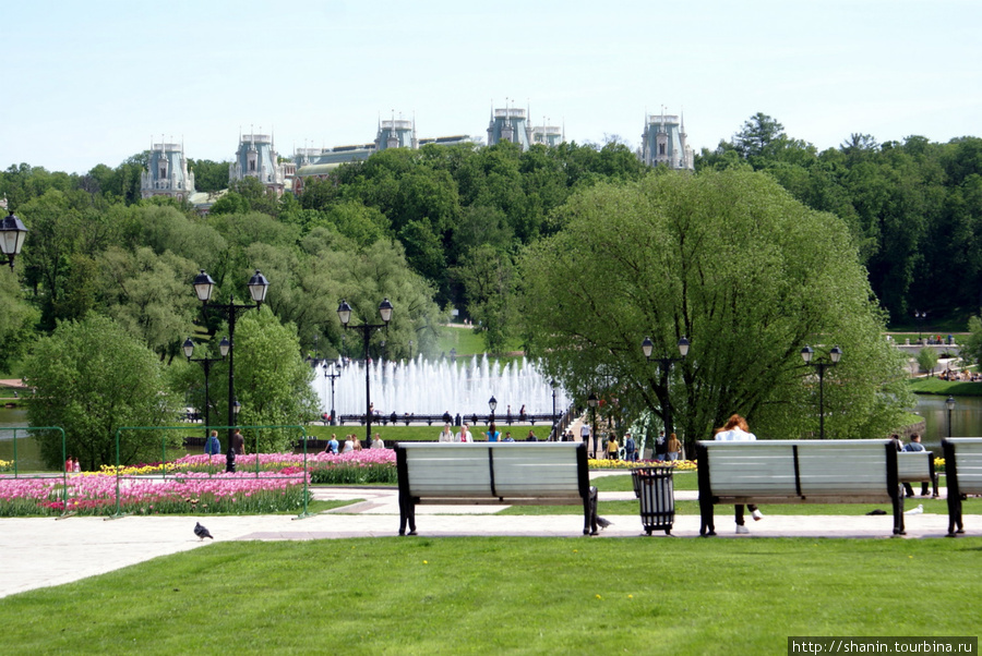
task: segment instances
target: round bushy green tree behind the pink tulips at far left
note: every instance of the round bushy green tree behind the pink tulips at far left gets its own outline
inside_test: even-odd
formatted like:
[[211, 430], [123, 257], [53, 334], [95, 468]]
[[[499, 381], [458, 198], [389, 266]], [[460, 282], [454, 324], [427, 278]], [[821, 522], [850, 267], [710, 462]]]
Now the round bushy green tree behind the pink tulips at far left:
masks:
[[[27, 406], [31, 425], [61, 426], [68, 453], [86, 470], [116, 464], [121, 426], [167, 426], [177, 417], [158, 359], [119, 324], [97, 314], [59, 324], [35, 344], [23, 369], [36, 390]], [[60, 466], [61, 436], [45, 432], [39, 438], [45, 462]], [[120, 463], [158, 460], [161, 439], [180, 444], [172, 432], [122, 432]]]

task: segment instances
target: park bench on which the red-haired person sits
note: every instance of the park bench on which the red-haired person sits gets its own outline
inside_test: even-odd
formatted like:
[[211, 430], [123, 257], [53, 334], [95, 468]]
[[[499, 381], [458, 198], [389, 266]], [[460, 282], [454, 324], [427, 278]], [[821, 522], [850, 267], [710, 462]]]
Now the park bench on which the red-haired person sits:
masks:
[[716, 503], [881, 503], [903, 535], [896, 446], [888, 439], [696, 442], [699, 535], [716, 535]]

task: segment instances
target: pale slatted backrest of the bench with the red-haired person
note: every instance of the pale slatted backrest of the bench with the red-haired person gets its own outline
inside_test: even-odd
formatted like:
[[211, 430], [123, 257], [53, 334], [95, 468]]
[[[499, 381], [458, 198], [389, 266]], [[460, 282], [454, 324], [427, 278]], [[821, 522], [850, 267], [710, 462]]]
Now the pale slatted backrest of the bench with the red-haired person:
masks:
[[884, 494], [887, 439], [700, 441], [715, 496]]

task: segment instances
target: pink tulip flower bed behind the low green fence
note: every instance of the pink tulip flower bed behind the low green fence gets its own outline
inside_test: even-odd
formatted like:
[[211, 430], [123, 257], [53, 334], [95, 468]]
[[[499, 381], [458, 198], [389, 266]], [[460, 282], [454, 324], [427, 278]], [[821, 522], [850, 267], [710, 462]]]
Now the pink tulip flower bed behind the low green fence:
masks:
[[[187, 473], [172, 478], [124, 477], [119, 481], [119, 510], [134, 514], [283, 512], [303, 507], [302, 471], [242, 474]], [[116, 476], [7, 478], [0, 481], [0, 517], [57, 515], [74, 512], [112, 514]]]

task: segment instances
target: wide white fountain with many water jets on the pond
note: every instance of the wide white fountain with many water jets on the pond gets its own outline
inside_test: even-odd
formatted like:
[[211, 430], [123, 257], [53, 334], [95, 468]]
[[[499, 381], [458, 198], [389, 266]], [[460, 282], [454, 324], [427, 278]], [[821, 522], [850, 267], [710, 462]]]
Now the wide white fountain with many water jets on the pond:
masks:
[[[342, 367], [335, 382], [335, 410], [338, 414], [363, 414], [364, 363], [351, 362]], [[487, 355], [455, 361], [428, 361], [421, 355], [410, 362], [369, 364], [372, 404], [375, 412], [388, 415], [412, 413], [488, 414], [488, 400], [498, 399], [496, 414], [504, 417], [511, 406], [512, 416], [518, 411], [532, 415], [552, 413], [552, 387], [535, 363], [520, 361], [500, 363]], [[322, 412], [331, 412], [331, 381], [319, 369], [313, 382], [321, 400]], [[562, 413], [571, 403], [565, 390], [555, 390], [555, 410]]]

